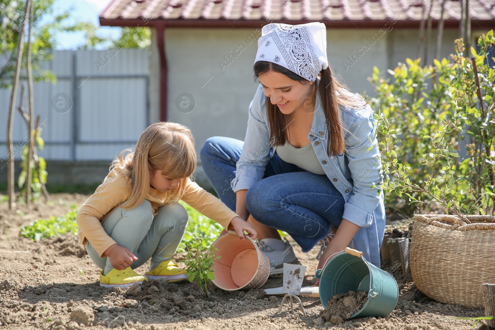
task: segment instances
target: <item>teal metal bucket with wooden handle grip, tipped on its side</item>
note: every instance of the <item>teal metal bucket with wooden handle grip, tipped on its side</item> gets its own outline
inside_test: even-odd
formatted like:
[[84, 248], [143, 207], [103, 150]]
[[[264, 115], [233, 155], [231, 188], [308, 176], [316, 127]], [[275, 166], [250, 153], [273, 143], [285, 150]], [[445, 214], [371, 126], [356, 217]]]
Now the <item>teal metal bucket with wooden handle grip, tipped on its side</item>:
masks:
[[320, 279], [323, 308], [327, 308], [328, 300], [335, 294], [368, 291], [368, 300], [350, 318], [388, 316], [399, 297], [396, 280], [390, 273], [367, 262], [362, 252], [348, 247], [346, 252], [339, 253], [323, 267], [323, 271], [319, 269], [316, 272], [316, 278]]

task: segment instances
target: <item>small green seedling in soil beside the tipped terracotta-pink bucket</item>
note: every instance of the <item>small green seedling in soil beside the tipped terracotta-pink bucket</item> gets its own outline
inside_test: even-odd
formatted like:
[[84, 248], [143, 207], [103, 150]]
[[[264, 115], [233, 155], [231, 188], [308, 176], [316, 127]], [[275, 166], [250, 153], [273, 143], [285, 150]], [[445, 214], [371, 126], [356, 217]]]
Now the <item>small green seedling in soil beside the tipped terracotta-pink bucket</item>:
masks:
[[[214, 259], [220, 258], [220, 256], [214, 256], [213, 250], [218, 251], [217, 248], [210, 246], [206, 250], [203, 250], [203, 239], [196, 235], [193, 236], [193, 241], [187, 245], [187, 260], [186, 275], [189, 282], [198, 282], [201, 291], [205, 297], [208, 296], [207, 284], [211, 280], [215, 279], [215, 275], [211, 270]], [[195, 254], [196, 253], [196, 254]]]

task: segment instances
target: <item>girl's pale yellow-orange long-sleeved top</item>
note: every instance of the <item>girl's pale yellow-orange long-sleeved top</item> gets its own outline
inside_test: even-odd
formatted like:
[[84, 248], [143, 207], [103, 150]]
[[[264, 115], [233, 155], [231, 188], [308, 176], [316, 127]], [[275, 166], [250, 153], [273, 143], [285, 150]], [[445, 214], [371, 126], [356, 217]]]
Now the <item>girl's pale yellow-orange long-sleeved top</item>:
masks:
[[[158, 214], [158, 208], [163, 206], [170, 192], [161, 192], [149, 187], [146, 199], [151, 203], [153, 215]], [[112, 170], [106, 176], [103, 183], [99, 185], [95, 193], [81, 206], [77, 212], [76, 222], [79, 226], [78, 235], [82, 244], [86, 244], [86, 239], [102, 256], [105, 250], [116, 242], [108, 236], [101, 222], [122, 202], [126, 201], [131, 193], [131, 179], [128, 179], [119, 171]], [[187, 180], [185, 195], [182, 200], [191, 205], [201, 214], [218, 222], [224, 228], [230, 221], [237, 217], [237, 214], [229, 209], [218, 198], [202, 189], [190, 179]]]

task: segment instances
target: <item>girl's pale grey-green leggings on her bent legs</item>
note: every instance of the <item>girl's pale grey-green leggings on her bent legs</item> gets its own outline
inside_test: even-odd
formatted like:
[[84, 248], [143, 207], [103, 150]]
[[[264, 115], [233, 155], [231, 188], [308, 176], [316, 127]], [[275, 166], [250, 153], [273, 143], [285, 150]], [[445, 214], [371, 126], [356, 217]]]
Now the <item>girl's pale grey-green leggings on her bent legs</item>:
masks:
[[[175, 254], [187, 223], [188, 214], [181, 204], [165, 204], [158, 208], [158, 214], [153, 218], [151, 204], [145, 199], [130, 210], [120, 206], [115, 208], [101, 225], [117, 244], [128, 248], [138, 257], [131, 265], [132, 269], [151, 258], [149, 270], [152, 271], [160, 262], [171, 259]], [[103, 275], [113, 269], [110, 258], [101, 258], [90, 241], [86, 242], [86, 251], [95, 264], [104, 269]]]

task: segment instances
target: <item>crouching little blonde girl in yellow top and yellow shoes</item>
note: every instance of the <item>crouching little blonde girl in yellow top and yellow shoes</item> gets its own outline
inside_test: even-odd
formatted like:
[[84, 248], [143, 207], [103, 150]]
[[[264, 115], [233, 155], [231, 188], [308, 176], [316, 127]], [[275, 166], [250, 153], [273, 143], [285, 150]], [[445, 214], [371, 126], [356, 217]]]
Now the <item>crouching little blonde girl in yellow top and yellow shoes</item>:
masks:
[[[122, 151], [103, 183], [77, 213], [78, 235], [101, 268], [100, 286], [127, 288], [146, 280], [186, 279], [172, 260], [187, 228], [182, 199], [244, 239], [256, 231], [189, 177], [196, 168], [191, 131], [176, 123], [150, 125], [134, 151]], [[151, 258], [145, 277], [133, 269]]]

